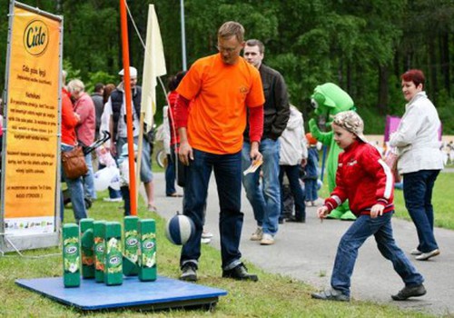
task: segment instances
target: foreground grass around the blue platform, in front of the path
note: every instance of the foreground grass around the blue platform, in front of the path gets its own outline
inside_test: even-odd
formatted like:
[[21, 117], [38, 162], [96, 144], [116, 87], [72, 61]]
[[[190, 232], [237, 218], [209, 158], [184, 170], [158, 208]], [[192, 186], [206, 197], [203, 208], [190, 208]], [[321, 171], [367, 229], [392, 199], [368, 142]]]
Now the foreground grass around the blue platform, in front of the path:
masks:
[[[452, 174], [454, 176], [454, 174]], [[97, 220], [121, 221], [122, 204], [104, 203], [103, 196], [94, 204], [90, 214]], [[67, 221], [71, 221], [72, 210], [65, 210]], [[139, 204], [139, 216], [150, 217], [145, 207]], [[180, 247], [167, 241], [163, 236], [164, 220], [152, 214], [157, 221], [158, 273], [168, 277], [180, 274], [178, 260]], [[23, 252], [25, 257], [16, 253], [0, 256], [0, 306], [2, 317], [139, 317], [143, 313], [119, 311], [113, 313], [80, 313], [73, 308], [55, 303], [37, 293], [29, 292], [15, 285], [18, 278], [37, 278], [62, 275], [62, 257], [58, 248]], [[204, 310], [172, 310], [153, 313], [156, 317], [428, 317], [429, 315], [401, 311], [390, 305], [351, 301], [332, 303], [311, 299], [315, 290], [304, 283], [286, 276], [264, 273], [248, 264], [252, 273], [259, 273], [260, 281], [236, 282], [220, 277], [219, 251], [210, 245], [202, 244], [199, 283], [228, 291], [220, 298], [214, 312]], [[49, 256], [45, 256], [49, 255]], [[114, 291], [115, 287], [111, 287]]]

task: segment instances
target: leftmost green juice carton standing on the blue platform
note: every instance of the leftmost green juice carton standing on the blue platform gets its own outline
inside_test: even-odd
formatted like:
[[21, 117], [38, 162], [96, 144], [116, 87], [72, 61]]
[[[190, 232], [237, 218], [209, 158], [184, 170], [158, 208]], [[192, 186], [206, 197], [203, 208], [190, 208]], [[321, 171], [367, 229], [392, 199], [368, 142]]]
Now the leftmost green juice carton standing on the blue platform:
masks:
[[79, 287], [81, 284], [79, 226], [63, 226], [63, 282], [64, 287]]

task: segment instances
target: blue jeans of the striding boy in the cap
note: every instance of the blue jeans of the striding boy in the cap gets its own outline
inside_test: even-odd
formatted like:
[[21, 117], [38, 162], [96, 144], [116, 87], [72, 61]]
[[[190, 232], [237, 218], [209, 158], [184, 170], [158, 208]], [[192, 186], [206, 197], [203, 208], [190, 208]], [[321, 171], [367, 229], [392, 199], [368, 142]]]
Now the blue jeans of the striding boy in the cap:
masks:
[[380, 253], [391, 261], [394, 270], [399, 273], [406, 286], [424, 282], [424, 278], [394, 241], [391, 227], [393, 213], [389, 212], [374, 219], [370, 215], [360, 215], [343, 234], [331, 275], [331, 286], [334, 289], [350, 296], [350, 277], [358, 257], [358, 249], [371, 235], [375, 236]]

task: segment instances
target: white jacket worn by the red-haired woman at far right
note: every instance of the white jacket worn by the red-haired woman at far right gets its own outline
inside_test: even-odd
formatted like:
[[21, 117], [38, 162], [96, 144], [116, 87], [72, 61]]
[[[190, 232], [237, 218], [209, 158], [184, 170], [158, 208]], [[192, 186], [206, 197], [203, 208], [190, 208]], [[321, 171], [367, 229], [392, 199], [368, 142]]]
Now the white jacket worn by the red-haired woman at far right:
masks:
[[405, 105], [398, 130], [390, 136], [390, 146], [398, 150], [400, 174], [443, 169], [439, 127], [437, 109], [426, 92], [419, 92]]

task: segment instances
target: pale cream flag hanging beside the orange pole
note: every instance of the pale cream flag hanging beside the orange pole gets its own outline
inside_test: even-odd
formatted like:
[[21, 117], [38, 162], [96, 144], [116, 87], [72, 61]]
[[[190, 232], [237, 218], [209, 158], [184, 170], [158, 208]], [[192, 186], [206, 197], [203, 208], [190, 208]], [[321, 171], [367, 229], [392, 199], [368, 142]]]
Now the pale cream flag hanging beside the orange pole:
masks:
[[165, 75], [165, 59], [161, 31], [154, 5], [148, 6], [148, 23], [146, 27], [145, 58], [143, 61], [142, 109], [144, 123], [149, 131], [153, 125], [153, 114], [156, 112], [156, 85], [158, 76]]

